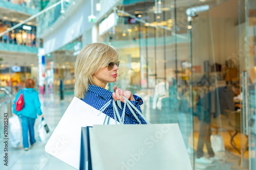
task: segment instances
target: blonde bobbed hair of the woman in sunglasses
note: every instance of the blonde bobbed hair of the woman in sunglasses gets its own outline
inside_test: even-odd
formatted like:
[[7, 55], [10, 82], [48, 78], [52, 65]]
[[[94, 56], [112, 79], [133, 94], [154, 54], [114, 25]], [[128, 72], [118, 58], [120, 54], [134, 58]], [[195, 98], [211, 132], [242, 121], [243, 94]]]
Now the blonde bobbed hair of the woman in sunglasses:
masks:
[[75, 96], [83, 99], [88, 85], [95, 84], [93, 74], [108, 63], [118, 60], [118, 52], [110, 45], [97, 42], [84, 46], [78, 54], [75, 64]]

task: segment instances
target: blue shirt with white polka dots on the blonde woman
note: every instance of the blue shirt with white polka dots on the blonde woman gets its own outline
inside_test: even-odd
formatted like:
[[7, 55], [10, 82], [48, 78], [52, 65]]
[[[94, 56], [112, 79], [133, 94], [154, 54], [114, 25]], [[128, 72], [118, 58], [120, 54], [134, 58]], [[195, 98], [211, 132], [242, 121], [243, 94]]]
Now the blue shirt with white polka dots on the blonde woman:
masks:
[[[143, 104], [143, 101], [139, 96], [137, 95], [133, 95], [133, 96], [135, 101], [131, 101], [131, 102], [141, 112], [140, 105]], [[104, 88], [101, 88], [99, 86], [89, 84], [88, 90], [84, 94], [84, 98], [81, 100], [87, 103], [88, 105], [94, 107], [95, 109], [100, 110], [102, 106], [104, 106], [108, 101], [112, 100], [112, 92]], [[124, 103], [121, 102], [121, 108], [120, 108], [116, 102], [116, 106], [117, 106], [119, 115], [122, 116]], [[135, 110], [134, 112], [136, 113]], [[103, 111], [103, 113], [115, 119], [112, 102], [109, 105], [109, 107]], [[138, 113], [136, 113], [136, 115], [140, 119], [141, 124], [146, 124], [145, 120]], [[132, 112], [127, 108], [127, 106], [125, 109], [124, 124], [139, 124], [138, 120], [136, 120], [136, 118], [133, 116]]]

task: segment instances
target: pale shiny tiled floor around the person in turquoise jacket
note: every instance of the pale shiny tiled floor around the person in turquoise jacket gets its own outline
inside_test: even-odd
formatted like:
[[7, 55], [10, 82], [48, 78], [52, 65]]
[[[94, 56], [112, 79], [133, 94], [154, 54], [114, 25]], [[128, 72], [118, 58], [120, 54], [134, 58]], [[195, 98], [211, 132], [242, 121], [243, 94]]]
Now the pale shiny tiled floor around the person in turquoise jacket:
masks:
[[[66, 111], [69, 103], [73, 99], [71, 96], [65, 96], [65, 101], [59, 102], [58, 99], [51, 98], [40, 98], [41, 109], [45, 114], [45, 120], [50, 125], [52, 129], [55, 129], [63, 113]], [[35, 122], [35, 137], [36, 143], [33, 145], [29, 151], [24, 151], [22, 143], [20, 143], [17, 149], [11, 147], [9, 143], [9, 164], [8, 167], [3, 165], [3, 160], [1, 159], [0, 169], [10, 169], [10, 170], [42, 170], [42, 169], [75, 169], [72, 166], [60, 161], [59, 159], [49, 155], [45, 152], [45, 145], [47, 141], [38, 141], [37, 127], [39, 125], [40, 118], [36, 119]], [[0, 143], [1, 152], [3, 153], [4, 143]], [[2, 157], [2, 154], [1, 154]]]

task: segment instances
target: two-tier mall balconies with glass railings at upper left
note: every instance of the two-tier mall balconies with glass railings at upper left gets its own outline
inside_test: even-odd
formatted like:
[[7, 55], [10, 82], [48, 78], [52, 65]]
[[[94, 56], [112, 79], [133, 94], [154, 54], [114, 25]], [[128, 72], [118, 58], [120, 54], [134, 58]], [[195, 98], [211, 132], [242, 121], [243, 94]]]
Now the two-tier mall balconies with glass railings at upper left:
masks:
[[[1, 67], [7, 69], [11, 65], [25, 66], [24, 56], [30, 64], [36, 64], [40, 39], [36, 37], [36, 18], [29, 20], [15, 29], [18, 23], [35, 15], [41, 8], [39, 1], [0, 1], [0, 32], [10, 30], [0, 36]], [[25, 60], [26, 60], [25, 59]], [[16, 60], [16, 62], [11, 62]]]

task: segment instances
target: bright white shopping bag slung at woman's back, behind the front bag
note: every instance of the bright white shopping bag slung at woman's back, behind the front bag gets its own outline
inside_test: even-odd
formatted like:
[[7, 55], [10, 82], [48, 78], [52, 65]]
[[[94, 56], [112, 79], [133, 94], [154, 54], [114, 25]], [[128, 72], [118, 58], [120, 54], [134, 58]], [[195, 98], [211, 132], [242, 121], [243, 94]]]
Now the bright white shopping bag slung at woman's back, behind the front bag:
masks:
[[113, 118], [99, 113], [99, 110], [75, 97], [48, 140], [46, 152], [78, 169], [81, 127], [103, 124], [107, 117], [109, 124], [115, 124]]

